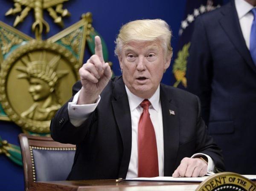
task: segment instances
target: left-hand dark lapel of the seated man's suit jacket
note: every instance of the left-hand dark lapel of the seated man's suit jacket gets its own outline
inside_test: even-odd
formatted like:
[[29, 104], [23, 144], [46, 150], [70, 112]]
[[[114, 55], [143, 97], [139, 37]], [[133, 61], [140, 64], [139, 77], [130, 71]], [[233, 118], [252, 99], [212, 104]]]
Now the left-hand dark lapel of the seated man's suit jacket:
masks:
[[113, 97], [113, 111], [123, 143], [119, 177], [125, 178], [131, 158], [131, 113], [122, 77], [118, 78], [114, 84]]

